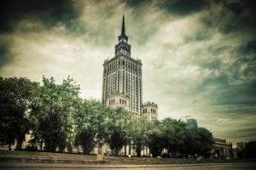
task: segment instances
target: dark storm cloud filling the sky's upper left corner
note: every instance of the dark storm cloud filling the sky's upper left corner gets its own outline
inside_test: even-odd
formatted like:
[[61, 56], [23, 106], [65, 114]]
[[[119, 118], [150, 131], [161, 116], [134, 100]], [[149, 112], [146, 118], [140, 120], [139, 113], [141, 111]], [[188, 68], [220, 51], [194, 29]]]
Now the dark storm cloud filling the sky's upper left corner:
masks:
[[2, 32], [14, 31], [16, 24], [27, 18], [41, 20], [45, 26], [55, 26], [59, 22], [68, 24], [78, 15], [70, 0], [9, 0], [2, 2], [0, 11]]

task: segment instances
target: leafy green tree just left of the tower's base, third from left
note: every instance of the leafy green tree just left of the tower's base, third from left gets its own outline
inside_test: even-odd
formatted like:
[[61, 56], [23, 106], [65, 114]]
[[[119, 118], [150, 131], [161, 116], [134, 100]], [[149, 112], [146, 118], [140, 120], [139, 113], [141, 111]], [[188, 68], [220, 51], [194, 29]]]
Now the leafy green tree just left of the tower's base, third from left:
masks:
[[96, 144], [102, 144], [107, 133], [107, 114], [104, 105], [96, 100], [79, 101], [79, 110], [74, 114], [76, 139], [75, 145], [83, 146], [84, 153], [90, 151]]

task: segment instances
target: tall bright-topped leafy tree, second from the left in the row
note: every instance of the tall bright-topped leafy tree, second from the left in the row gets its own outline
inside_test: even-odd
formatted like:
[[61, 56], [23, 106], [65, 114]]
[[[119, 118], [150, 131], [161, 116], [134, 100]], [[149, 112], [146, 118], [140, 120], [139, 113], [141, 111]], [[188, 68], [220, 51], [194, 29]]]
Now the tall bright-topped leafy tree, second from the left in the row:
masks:
[[43, 77], [38, 95], [38, 105], [32, 112], [32, 117], [37, 120], [32, 131], [34, 140], [44, 142], [48, 151], [55, 151], [57, 147], [63, 151], [72, 146], [74, 140], [73, 114], [79, 99], [79, 86], [71, 77], [64, 79], [60, 85], [55, 84], [53, 77]]

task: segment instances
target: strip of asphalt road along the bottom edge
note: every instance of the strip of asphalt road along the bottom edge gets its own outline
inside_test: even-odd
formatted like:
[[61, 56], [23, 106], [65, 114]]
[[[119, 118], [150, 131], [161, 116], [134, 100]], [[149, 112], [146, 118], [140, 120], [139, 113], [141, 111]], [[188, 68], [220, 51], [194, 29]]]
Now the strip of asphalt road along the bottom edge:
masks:
[[243, 163], [207, 163], [207, 164], [177, 164], [177, 165], [109, 165], [109, 164], [97, 164], [97, 165], [81, 165], [81, 164], [42, 164], [42, 163], [1, 163], [0, 170], [6, 169], [44, 169], [44, 170], [75, 170], [75, 169], [150, 169], [150, 170], [255, 170], [256, 162], [243, 162]]

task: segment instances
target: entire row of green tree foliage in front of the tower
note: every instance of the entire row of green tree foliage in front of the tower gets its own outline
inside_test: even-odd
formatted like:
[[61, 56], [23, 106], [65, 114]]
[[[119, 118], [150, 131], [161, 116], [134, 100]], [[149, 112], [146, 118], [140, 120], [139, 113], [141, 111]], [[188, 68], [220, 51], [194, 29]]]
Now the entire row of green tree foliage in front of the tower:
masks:
[[[108, 144], [113, 156], [131, 144], [141, 156], [148, 147], [153, 156], [209, 156], [212, 133], [206, 128], [188, 129], [180, 120], [146, 122], [122, 107], [110, 108], [95, 99], [81, 99], [79, 86], [67, 77], [56, 84], [43, 77], [40, 85], [27, 78], [0, 77], [0, 143], [20, 148], [25, 134], [31, 132], [31, 148], [45, 146], [47, 151], [73, 150], [82, 146], [90, 154], [97, 146]], [[247, 145], [247, 155], [253, 150]]]

